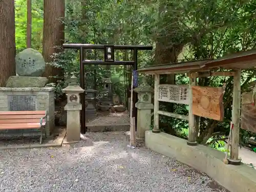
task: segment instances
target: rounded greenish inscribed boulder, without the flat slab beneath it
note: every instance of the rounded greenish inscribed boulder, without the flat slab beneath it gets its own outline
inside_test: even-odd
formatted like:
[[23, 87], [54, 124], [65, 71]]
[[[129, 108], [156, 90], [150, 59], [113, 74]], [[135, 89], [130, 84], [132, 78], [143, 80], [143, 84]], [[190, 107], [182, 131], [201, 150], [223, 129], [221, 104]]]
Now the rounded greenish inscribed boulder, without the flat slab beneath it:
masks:
[[41, 76], [46, 62], [42, 54], [34, 49], [25, 49], [15, 57], [16, 73], [19, 76]]

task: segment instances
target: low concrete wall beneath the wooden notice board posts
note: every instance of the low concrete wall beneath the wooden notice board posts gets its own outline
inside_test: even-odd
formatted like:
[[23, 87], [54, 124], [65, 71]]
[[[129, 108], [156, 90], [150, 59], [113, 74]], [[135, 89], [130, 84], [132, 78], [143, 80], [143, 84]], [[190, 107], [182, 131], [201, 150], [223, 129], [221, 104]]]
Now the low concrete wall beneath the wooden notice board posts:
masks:
[[186, 140], [165, 133], [146, 131], [145, 144], [151, 150], [206, 173], [230, 192], [256, 191], [256, 170], [245, 165], [226, 165], [225, 154], [212, 148], [188, 146]]

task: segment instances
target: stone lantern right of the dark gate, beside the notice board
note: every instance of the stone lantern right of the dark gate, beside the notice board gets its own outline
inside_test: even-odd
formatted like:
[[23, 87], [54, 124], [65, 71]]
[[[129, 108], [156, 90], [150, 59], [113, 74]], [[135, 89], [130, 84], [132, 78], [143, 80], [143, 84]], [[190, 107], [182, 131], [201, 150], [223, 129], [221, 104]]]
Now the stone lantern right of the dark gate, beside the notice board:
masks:
[[151, 111], [154, 109], [151, 98], [154, 90], [146, 83], [146, 78], [144, 77], [143, 83], [135, 88], [134, 91], [138, 93], [138, 102], [135, 103], [135, 107], [138, 109], [136, 136], [144, 139], [145, 131], [150, 130], [151, 126]]

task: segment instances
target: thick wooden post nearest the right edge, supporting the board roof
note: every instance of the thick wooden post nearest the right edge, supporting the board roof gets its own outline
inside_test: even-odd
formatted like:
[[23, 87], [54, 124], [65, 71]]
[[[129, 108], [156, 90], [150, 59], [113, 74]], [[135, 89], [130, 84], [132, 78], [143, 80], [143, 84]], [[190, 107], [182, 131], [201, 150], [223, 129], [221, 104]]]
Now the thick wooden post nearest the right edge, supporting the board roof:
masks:
[[233, 104], [232, 104], [232, 123], [231, 131], [231, 151], [229, 164], [240, 165], [239, 159], [239, 132], [240, 132], [240, 108], [241, 108], [241, 69], [236, 71], [233, 80]]

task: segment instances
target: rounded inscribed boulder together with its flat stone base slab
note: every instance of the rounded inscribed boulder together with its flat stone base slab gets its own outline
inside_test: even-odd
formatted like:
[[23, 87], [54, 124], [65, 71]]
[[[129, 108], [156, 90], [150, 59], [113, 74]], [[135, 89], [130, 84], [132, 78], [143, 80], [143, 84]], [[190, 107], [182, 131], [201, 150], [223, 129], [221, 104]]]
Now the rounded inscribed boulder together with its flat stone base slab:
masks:
[[7, 80], [7, 88], [42, 88], [48, 79], [40, 77], [45, 72], [46, 62], [42, 54], [34, 49], [25, 49], [15, 57], [16, 74]]

